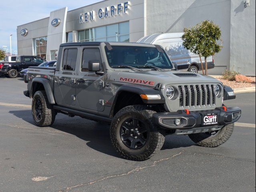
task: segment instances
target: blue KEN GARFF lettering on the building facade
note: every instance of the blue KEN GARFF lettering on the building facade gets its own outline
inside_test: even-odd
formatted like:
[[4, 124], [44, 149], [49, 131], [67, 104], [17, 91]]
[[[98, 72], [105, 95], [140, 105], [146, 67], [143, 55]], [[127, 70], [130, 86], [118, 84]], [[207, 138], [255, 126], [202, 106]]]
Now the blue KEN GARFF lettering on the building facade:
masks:
[[[120, 15], [122, 12], [127, 13], [128, 12], [128, 6], [130, 2], [124, 2], [117, 5], [112, 5], [106, 8], [100, 8], [97, 11], [98, 18], [108, 18], [116, 15]], [[84, 23], [88, 21], [94, 21], [94, 11], [81, 13], [79, 14], [79, 22]]]

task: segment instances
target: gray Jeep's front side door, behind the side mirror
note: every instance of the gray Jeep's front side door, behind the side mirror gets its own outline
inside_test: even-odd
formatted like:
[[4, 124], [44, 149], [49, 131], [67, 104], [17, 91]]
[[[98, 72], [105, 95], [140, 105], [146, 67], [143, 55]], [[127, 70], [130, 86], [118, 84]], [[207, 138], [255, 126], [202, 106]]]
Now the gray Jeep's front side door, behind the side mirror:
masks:
[[[99, 60], [102, 63], [98, 47], [82, 47], [82, 64], [77, 70], [76, 98], [81, 109], [95, 111], [104, 110], [104, 76], [88, 71], [90, 60]], [[101, 67], [102, 68], [102, 67]]]

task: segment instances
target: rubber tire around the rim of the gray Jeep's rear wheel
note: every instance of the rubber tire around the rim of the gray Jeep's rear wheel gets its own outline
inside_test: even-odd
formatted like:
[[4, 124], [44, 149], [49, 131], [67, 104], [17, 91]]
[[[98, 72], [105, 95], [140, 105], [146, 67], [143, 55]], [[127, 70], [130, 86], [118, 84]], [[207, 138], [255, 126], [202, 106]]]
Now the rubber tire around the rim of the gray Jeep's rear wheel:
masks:
[[[35, 111], [35, 105], [36, 100], [40, 99], [42, 104], [42, 118], [38, 119], [36, 117], [36, 111]], [[54, 123], [55, 116], [56, 116], [56, 110], [54, 110], [52, 104], [49, 104], [48, 98], [46, 96], [46, 92], [44, 90], [37, 91], [32, 100], [32, 116], [34, 119], [34, 122], [39, 127], [47, 127], [51, 126]]]

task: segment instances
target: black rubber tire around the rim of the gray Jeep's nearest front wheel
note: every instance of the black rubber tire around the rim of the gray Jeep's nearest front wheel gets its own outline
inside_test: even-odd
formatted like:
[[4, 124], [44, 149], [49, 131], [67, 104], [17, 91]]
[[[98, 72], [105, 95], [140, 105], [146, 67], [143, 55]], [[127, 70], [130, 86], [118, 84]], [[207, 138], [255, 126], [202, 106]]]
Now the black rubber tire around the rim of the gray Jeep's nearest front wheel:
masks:
[[[143, 161], [157, 153], [164, 144], [165, 131], [154, 126], [152, 115], [155, 111], [149, 110], [143, 105], [133, 105], [122, 108], [114, 116], [110, 126], [110, 139], [116, 151], [125, 159]], [[121, 139], [120, 128], [127, 118], [139, 118], [150, 128], [150, 136], [146, 144], [139, 149], [128, 148]]]

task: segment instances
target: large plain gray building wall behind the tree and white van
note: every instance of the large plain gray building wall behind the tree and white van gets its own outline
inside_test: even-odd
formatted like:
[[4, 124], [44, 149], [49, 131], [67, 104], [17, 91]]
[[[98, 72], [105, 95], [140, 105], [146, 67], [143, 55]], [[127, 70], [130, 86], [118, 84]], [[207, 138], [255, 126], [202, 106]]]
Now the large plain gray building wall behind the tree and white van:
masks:
[[203, 20], [213, 20], [222, 30], [222, 51], [214, 57], [215, 68], [209, 74], [220, 74], [230, 63], [230, 0], [147, 0], [147, 35], [183, 32]]

